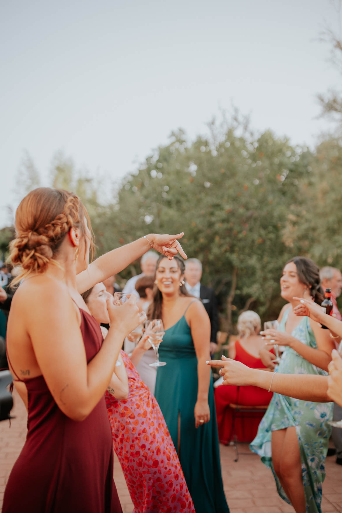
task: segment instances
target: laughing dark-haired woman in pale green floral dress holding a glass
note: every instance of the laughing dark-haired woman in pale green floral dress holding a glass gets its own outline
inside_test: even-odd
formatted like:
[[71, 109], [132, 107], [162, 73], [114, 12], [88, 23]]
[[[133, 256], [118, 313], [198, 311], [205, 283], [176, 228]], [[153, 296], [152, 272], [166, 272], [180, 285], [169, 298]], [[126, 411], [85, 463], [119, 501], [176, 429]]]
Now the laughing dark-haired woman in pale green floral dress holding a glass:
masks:
[[[327, 376], [334, 342], [329, 330], [309, 317], [296, 317], [293, 298], [311, 297], [321, 303], [319, 269], [312, 260], [295, 257], [280, 279], [281, 297], [289, 303], [279, 315], [279, 329], [264, 331], [267, 345], [285, 346], [277, 372]], [[321, 513], [322, 482], [331, 427], [332, 403], [301, 401], [278, 393], [259, 425], [250, 445], [271, 467], [280, 497], [292, 504], [296, 513]]]

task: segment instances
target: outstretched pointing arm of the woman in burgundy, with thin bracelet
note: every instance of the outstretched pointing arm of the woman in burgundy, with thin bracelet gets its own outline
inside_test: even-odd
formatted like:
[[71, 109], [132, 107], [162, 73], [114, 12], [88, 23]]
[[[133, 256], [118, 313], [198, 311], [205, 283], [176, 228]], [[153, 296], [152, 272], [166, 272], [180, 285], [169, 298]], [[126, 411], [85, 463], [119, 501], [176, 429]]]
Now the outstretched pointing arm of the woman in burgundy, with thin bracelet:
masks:
[[126, 246], [109, 251], [109, 253], [94, 260], [88, 265], [87, 269], [77, 275], [78, 291], [82, 294], [97, 283], [101, 283], [113, 274], [117, 274], [151, 248], [165, 255], [169, 260], [172, 260], [177, 253], [186, 259], [186, 254], [178, 242], [178, 239], [181, 239], [183, 235], [183, 232], [177, 235], [150, 233], [135, 242], [126, 244]]

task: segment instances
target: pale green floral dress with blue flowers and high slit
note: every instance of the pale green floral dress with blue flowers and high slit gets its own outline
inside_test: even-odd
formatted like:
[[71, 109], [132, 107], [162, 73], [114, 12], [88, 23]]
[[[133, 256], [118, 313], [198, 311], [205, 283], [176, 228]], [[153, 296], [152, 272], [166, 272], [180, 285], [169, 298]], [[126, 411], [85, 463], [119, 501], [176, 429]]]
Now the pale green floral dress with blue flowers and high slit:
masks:
[[[279, 330], [285, 331], [289, 310], [284, 312]], [[314, 349], [317, 343], [310, 326], [309, 317], [303, 317], [292, 331], [292, 337]], [[325, 370], [312, 365], [296, 351], [286, 346], [278, 372], [282, 374], [320, 374], [328, 376]], [[275, 475], [272, 464], [271, 432], [295, 426], [303, 476], [307, 513], [321, 513], [322, 483], [326, 477], [325, 460], [328, 451], [333, 403], [313, 403], [300, 401], [274, 393], [270, 405], [259, 425], [258, 433], [250, 449], [261, 456], [261, 461], [271, 467], [280, 497], [290, 504], [281, 484]]]

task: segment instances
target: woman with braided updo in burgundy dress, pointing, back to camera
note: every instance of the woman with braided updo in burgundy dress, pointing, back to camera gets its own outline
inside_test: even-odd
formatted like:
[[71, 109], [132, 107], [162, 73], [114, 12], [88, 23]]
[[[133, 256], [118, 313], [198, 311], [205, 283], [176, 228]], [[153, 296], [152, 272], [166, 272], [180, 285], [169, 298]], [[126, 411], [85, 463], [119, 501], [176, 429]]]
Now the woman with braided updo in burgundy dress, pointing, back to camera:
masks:
[[108, 299], [110, 328], [103, 341], [80, 293], [151, 246], [170, 259], [178, 251], [184, 255], [177, 241], [182, 233], [149, 234], [88, 265], [92, 237], [81, 201], [43, 187], [18, 206], [15, 227], [11, 260], [22, 272], [14, 283], [23, 283], [11, 305], [7, 355], [28, 409], [28, 433], [3, 512], [120, 512], [104, 392], [124, 338], [145, 313], [139, 314], [134, 297], [122, 306]]

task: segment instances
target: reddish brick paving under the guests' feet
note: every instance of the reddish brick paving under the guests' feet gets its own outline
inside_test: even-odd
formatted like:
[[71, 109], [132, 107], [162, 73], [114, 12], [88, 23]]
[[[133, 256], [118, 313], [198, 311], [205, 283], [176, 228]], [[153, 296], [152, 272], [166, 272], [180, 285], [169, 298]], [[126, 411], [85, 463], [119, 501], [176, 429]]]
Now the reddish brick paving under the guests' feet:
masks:
[[[2, 505], [9, 472], [26, 437], [26, 410], [15, 392], [12, 413], [16, 418], [12, 420], [11, 427], [7, 421], [0, 423], [0, 505]], [[245, 451], [246, 446], [241, 450]], [[237, 463], [233, 460], [233, 448], [221, 446], [222, 477], [231, 513], [294, 511], [279, 498], [271, 470], [264, 467], [258, 456], [242, 455]], [[117, 460], [114, 475], [122, 509], [124, 513], [131, 513], [133, 505]], [[336, 465], [333, 457], [327, 458], [327, 478], [323, 490], [323, 513], [342, 512], [342, 466]]]

